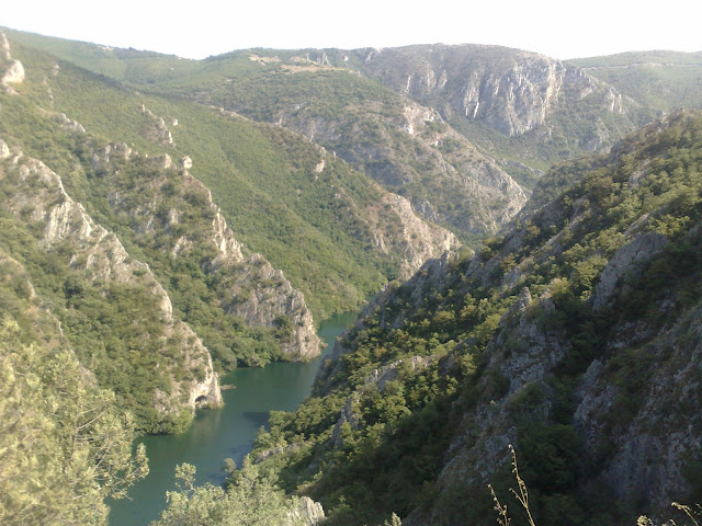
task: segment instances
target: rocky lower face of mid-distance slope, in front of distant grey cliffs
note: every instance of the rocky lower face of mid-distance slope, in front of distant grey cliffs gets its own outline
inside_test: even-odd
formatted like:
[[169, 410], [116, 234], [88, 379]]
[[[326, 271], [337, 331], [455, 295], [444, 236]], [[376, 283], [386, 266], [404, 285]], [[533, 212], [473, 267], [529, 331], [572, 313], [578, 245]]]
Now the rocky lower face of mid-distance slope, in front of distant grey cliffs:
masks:
[[[464, 232], [495, 233], [528, 198], [523, 187], [435, 110], [412, 101], [403, 99], [401, 110], [389, 114], [380, 102], [366, 104], [362, 114], [349, 106], [333, 119], [304, 106], [290, 107], [282, 108], [278, 119], [388, 192], [401, 193], [414, 214], [432, 222]], [[373, 129], [372, 139], [369, 129]]]

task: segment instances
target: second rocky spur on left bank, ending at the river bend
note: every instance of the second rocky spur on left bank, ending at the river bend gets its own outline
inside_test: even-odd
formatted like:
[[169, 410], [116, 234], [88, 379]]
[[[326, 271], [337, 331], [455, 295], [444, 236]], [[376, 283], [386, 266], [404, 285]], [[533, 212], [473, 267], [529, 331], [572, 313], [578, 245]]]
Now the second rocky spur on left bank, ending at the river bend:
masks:
[[[285, 320], [290, 333], [280, 339], [280, 346], [288, 359], [319, 354], [320, 341], [303, 295], [262, 255], [245, 255], [248, 251], [210, 190], [185, 168], [192, 167], [190, 159], [176, 164], [168, 155], [144, 158], [118, 144], [95, 149], [90, 165], [102, 174], [111, 211], [124, 217], [137, 243], [168, 255], [176, 265], [178, 260], [199, 258], [220, 309], [247, 325], [276, 329]], [[132, 172], [138, 173], [136, 179], [123, 176]]]

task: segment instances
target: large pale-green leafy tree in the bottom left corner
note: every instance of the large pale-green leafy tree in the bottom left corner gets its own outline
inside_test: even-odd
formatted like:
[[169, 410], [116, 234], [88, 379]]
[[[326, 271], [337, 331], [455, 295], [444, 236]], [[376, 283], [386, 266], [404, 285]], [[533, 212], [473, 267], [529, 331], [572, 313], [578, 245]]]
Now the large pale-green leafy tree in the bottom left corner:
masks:
[[98, 389], [70, 351], [24, 343], [0, 325], [0, 523], [103, 525], [148, 472], [134, 425], [112, 391]]

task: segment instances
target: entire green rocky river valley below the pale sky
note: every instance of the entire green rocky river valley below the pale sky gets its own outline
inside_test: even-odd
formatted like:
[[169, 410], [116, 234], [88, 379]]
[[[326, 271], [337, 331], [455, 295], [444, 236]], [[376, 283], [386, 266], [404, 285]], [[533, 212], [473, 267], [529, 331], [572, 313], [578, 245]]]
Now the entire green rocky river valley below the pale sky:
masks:
[[0, 52], [0, 522], [702, 502], [699, 54]]

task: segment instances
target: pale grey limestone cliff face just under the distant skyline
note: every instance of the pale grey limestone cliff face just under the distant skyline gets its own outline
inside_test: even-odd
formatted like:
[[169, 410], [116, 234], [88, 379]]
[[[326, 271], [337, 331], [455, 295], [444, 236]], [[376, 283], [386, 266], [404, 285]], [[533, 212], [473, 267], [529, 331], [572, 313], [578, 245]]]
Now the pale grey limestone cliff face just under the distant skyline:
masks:
[[[508, 137], [548, 125], [564, 104], [623, 114], [613, 88], [584, 70], [534, 53], [497, 46], [433, 45], [365, 55], [364, 71], [444, 118], [477, 121]], [[582, 103], [581, 101], [585, 101]], [[603, 140], [609, 140], [607, 132]], [[601, 147], [595, 137], [584, 149]]]

